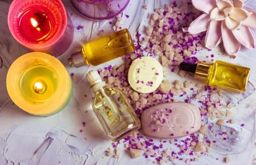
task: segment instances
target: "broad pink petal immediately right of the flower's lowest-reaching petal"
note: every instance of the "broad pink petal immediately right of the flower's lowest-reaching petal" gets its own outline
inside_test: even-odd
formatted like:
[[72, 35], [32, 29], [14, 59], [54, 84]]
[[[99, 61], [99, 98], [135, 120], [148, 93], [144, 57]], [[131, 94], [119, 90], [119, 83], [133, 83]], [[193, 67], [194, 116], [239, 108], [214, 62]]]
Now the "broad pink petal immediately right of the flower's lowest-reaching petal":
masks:
[[250, 27], [241, 25], [239, 30], [233, 30], [233, 35], [247, 49], [255, 48], [254, 33]]

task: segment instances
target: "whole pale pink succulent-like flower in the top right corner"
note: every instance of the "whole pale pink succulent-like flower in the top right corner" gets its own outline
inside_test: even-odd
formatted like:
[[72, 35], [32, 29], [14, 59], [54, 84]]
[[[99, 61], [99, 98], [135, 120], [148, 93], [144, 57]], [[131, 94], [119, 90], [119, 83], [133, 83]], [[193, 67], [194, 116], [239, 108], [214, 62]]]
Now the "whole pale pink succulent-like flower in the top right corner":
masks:
[[214, 48], [221, 41], [229, 55], [239, 52], [241, 45], [255, 48], [256, 11], [244, 7], [244, 0], [192, 0], [195, 8], [205, 12], [184, 32], [198, 34], [207, 30], [205, 47]]

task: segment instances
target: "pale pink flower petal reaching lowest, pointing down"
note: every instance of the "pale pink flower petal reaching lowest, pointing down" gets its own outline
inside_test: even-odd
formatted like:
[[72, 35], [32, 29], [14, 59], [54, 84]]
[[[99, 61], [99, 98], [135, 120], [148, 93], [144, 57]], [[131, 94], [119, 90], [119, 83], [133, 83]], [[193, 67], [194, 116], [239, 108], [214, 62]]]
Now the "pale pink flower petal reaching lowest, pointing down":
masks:
[[232, 31], [227, 28], [224, 20], [221, 23], [221, 35], [222, 35], [224, 49], [227, 52], [227, 54], [233, 55], [240, 50], [241, 43], [239, 43], [236, 40]]

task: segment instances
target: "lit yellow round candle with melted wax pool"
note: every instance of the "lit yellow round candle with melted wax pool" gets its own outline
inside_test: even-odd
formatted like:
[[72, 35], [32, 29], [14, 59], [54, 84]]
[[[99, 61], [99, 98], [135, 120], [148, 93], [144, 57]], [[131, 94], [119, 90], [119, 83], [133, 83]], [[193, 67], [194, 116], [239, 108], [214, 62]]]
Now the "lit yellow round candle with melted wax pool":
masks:
[[6, 86], [12, 101], [35, 116], [58, 113], [66, 107], [73, 91], [64, 65], [42, 52], [18, 58], [7, 73]]

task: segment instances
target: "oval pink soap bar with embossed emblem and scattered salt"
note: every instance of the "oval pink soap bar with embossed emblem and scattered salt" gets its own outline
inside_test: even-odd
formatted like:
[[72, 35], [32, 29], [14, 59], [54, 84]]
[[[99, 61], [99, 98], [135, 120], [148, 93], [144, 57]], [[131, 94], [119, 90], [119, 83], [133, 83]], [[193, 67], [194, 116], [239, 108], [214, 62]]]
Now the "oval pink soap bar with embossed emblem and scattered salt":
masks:
[[200, 110], [194, 104], [172, 102], [150, 107], [142, 113], [146, 136], [177, 138], [195, 133], [201, 127]]

